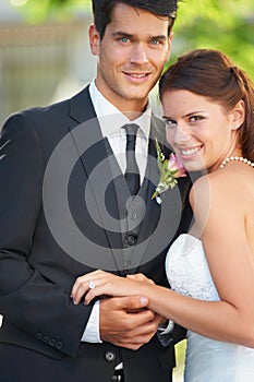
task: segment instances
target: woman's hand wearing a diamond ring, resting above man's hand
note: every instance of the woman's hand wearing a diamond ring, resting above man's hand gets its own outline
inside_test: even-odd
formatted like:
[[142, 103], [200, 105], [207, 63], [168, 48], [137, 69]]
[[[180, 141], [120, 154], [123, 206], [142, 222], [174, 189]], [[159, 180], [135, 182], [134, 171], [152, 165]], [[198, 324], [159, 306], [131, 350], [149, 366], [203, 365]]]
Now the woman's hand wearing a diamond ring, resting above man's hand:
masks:
[[143, 275], [124, 278], [104, 271], [95, 271], [77, 277], [72, 288], [72, 299], [78, 303], [85, 296], [88, 305], [96, 296], [141, 296], [141, 285], [153, 283]]

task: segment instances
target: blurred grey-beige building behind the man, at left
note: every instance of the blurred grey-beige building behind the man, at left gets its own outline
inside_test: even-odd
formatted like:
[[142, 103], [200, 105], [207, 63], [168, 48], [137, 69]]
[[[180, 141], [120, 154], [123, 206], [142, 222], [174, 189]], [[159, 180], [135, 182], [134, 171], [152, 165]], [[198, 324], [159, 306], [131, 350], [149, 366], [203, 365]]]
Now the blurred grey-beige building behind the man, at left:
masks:
[[13, 111], [63, 99], [95, 74], [90, 12], [64, 23], [31, 25], [9, 0], [0, 4], [0, 124]]

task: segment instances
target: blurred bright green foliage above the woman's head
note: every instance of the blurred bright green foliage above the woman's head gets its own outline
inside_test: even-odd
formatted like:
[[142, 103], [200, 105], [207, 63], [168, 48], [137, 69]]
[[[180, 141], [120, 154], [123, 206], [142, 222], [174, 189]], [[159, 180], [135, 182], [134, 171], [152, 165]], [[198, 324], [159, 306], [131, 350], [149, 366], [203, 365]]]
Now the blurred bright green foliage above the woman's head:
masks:
[[172, 60], [190, 49], [226, 52], [254, 77], [253, 0], [185, 0], [179, 3]]

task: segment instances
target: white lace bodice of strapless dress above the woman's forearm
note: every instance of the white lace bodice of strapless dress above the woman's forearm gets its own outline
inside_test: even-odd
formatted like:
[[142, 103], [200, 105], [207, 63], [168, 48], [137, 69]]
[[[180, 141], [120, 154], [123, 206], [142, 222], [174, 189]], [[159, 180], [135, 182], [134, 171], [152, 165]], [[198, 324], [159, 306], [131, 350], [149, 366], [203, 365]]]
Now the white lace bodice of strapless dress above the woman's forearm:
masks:
[[219, 300], [202, 242], [194, 236], [180, 235], [172, 243], [166, 259], [166, 272], [171, 288], [179, 294], [201, 300]]

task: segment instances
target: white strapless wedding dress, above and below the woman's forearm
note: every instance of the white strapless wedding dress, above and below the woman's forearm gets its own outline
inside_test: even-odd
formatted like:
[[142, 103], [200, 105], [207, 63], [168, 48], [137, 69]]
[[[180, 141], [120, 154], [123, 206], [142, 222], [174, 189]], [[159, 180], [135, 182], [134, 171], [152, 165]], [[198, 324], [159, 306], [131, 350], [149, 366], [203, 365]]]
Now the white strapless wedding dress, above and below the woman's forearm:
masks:
[[[180, 235], [169, 249], [166, 272], [179, 294], [219, 300], [199, 239]], [[184, 382], [254, 382], [254, 349], [189, 331]]]

